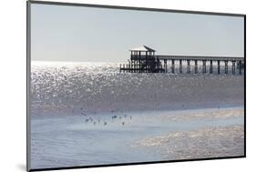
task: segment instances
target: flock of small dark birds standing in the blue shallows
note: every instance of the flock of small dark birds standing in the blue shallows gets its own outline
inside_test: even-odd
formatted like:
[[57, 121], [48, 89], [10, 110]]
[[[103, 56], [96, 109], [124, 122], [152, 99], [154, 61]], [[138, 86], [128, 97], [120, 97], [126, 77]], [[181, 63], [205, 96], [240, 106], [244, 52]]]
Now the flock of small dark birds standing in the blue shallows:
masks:
[[[83, 111], [83, 108], [81, 107], [80, 110]], [[97, 125], [97, 124], [103, 124], [104, 126], [108, 125], [108, 122], [106, 120], [101, 120], [100, 116], [98, 116], [97, 119], [94, 119], [92, 116], [87, 116], [87, 114], [84, 113], [84, 112], [81, 112], [81, 115], [86, 116], [86, 119], [85, 119], [86, 123], [92, 123], [93, 125]], [[127, 116], [127, 115], [124, 115], [124, 116], [116, 116], [116, 115], [115, 116], [111, 116], [112, 120], [119, 119], [119, 121], [121, 121], [121, 125], [122, 126], [125, 126], [124, 119], [130, 119], [131, 120], [131, 118], [132, 118], [131, 116]]]

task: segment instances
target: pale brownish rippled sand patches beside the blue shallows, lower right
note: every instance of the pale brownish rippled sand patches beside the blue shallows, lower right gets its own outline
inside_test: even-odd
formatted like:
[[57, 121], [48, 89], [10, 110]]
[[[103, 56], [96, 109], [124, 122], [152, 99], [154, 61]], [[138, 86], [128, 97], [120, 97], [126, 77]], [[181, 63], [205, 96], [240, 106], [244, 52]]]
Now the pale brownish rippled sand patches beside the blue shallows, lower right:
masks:
[[[222, 116], [229, 111], [229, 116]], [[223, 117], [243, 116], [242, 110], [219, 110], [200, 119], [213, 120]], [[195, 120], [198, 115], [171, 116], [171, 120]], [[177, 118], [176, 118], [177, 117]], [[168, 116], [169, 118], [169, 116]], [[202, 126], [189, 131], [169, 132], [157, 137], [146, 137], [134, 147], [150, 147], [158, 151], [163, 159], [196, 159], [210, 157], [240, 157], [244, 155], [244, 126]]]

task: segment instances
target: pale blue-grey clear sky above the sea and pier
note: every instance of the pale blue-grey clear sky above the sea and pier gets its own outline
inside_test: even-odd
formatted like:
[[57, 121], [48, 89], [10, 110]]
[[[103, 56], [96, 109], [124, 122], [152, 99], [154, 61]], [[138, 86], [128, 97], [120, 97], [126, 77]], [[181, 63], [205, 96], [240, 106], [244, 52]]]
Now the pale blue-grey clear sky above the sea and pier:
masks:
[[126, 62], [142, 45], [157, 55], [243, 57], [243, 17], [31, 5], [32, 60]]

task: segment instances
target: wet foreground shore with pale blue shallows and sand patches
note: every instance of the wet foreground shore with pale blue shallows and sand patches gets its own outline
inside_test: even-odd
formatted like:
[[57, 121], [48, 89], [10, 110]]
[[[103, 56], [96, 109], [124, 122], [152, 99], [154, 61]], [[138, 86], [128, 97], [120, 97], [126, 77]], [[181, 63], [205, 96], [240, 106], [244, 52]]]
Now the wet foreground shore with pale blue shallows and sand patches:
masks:
[[242, 156], [242, 110], [34, 116], [31, 165], [70, 167]]

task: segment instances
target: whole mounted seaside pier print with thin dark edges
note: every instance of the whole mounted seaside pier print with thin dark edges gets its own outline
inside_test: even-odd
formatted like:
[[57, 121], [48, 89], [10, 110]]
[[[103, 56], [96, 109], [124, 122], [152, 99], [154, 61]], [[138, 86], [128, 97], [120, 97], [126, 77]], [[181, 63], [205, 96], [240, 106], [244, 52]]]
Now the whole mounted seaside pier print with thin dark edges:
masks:
[[246, 15], [26, 5], [28, 171], [246, 157]]

